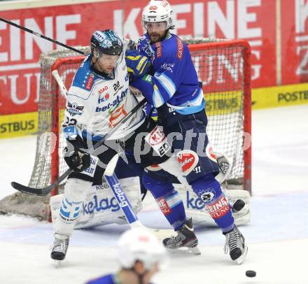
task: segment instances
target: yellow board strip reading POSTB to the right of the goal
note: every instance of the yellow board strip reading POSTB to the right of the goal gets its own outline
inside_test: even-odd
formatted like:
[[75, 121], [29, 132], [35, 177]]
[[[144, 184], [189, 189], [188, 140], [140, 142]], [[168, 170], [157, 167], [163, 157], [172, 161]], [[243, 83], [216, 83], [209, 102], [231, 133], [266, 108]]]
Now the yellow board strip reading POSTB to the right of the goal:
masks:
[[252, 104], [253, 110], [308, 104], [308, 83], [253, 89]]

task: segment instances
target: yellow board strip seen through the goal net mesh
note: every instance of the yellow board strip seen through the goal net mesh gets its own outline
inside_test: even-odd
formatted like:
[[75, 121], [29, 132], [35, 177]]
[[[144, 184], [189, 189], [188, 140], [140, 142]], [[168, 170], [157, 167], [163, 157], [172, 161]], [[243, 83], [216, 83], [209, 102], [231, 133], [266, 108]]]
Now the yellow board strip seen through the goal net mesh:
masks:
[[243, 105], [242, 92], [212, 92], [204, 94], [207, 115], [225, 115], [239, 112]]

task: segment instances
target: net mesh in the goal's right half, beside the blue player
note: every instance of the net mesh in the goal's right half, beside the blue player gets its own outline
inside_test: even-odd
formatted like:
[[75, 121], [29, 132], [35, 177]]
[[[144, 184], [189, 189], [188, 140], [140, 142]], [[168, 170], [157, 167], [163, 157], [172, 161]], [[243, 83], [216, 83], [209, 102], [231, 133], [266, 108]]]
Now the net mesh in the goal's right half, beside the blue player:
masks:
[[229, 177], [244, 177], [244, 65], [241, 47], [193, 51], [195, 68], [202, 80], [209, 119], [207, 134], [214, 150], [232, 159]]

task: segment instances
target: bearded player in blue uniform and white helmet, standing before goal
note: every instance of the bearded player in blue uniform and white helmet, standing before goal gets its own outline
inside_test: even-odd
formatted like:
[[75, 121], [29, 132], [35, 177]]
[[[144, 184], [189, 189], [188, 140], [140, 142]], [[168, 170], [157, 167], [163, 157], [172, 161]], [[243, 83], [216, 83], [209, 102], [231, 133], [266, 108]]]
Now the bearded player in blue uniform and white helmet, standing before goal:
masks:
[[[174, 135], [171, 143], [176, 149], [174, 159], [181, 166], [181, 174], [204, 201], [225, 235], [225, 253], [230, 250], [231, 259], [241, 264], [247, 253], [245, 239], [234, 223], [230, 204], [215, 178], [219, 170], [207, 137], [204, 94], [188, 46], [170, 32], [174, 28], [172, 13], [167, 1], [151, 0], [144, 8], [142, 24], [146, 34], [139, 39], [138, 50], [151, 59], [152, 67], [143, 77], [132, 76], [131, 84], [157, 109], [165, 134]], [[155, 171], [148, 168], [143, 181], [167, 219], [173, 219], [177, 234], [164, 240], [166, 248], [195, 246], [197, 237], [193, 224], [183, 218], [183, 206], [176, 206], [177, 192], [168, 179], [158, 178]]]

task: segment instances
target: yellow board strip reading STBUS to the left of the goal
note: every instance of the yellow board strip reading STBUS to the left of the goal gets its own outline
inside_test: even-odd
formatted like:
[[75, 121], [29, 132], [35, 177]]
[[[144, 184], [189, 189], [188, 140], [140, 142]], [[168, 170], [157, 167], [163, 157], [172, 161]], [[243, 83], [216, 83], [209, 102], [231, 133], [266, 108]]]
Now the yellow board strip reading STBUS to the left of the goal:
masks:
[[36, 134], [37, 129], [37, 112], [0, 115], [0, 139]]

